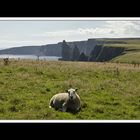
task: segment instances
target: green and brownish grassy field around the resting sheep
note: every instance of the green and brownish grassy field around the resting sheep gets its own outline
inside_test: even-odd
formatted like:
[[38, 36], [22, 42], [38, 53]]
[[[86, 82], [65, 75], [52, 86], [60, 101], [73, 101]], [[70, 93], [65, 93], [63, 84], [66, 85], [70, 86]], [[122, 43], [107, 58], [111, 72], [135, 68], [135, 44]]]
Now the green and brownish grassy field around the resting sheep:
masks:
[[[49, 108], [50, 98], [78, 88], [77, 114]], [[131, 64], [0, 61], [1, 120], [139, 120], [140, 67]]]

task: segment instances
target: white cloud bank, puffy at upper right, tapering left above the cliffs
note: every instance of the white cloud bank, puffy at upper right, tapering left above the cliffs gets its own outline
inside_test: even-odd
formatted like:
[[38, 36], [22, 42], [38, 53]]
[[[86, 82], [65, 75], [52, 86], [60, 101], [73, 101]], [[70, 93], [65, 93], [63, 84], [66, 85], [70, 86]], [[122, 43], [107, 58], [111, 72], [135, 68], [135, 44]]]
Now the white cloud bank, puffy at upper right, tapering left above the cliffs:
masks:
[[96, 28], [77, 28], [72, 30], [61, 30], [44, 32], [36, 35], [40, 37], [68, 38], [68, 39], [87, 39], [96, 37], [133, 37], [140, 36], [140, 21], [106, 21], [102, 27]]

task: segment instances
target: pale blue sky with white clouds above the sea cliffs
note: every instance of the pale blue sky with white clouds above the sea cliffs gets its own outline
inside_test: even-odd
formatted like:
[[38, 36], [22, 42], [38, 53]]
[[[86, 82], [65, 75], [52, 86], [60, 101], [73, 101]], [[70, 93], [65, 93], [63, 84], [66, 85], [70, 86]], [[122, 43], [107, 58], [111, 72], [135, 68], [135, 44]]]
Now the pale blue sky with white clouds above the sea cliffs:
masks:
[[0, 49], [122, 37], [140, 37], [140, 20], [0, 20]]

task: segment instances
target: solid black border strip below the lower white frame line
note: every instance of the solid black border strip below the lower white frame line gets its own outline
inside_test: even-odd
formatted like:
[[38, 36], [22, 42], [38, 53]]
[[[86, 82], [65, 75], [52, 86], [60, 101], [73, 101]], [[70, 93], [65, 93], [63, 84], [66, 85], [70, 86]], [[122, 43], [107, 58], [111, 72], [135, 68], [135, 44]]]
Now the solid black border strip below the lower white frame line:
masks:
[[2, 123], [0, 132], [10, 138], [30, 135], [39, 139], [120, 139], [122, 136], [132, 136], [134, 139], [139, 136], [139, 126], [137, 123]]

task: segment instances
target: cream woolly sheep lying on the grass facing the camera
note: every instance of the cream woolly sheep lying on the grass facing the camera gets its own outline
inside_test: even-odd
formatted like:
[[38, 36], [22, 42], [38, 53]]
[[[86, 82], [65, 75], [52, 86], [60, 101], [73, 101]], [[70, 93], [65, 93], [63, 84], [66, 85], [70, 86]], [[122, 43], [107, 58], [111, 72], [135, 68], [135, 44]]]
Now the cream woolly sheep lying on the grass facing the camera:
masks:
[[49, 108], [55, 108], [62, 112], [76, 113], [81, 109], [80, 97], [76, 93], [77, 89], [70, 88], [66, 93], [54, 95], [49, 103]]

